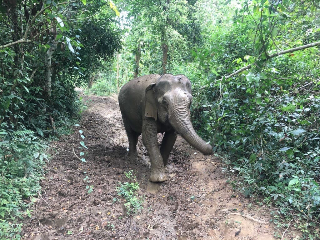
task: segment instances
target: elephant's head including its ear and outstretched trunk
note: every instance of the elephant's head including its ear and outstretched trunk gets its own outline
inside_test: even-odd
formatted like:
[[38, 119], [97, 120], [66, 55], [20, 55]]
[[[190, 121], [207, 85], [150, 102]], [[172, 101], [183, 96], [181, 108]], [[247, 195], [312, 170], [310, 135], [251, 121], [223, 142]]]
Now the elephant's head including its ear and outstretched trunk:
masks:
[[210, 144], [202, 140], [190, 120], [191, 82], [184, 75], [165, 74], [146, 88], [145, 116], [171, 125], [185, 140], [204, 155], [212, 153]]

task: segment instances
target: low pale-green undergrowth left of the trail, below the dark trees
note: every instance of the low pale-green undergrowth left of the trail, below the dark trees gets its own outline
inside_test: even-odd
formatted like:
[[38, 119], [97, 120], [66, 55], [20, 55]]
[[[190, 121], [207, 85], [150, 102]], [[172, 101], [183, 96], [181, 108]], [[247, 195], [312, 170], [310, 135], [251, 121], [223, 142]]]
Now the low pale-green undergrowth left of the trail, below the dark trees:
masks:
[[32, 131], [10, 132], [0, 129], [0, 237], [20, 239], [18, 220], [31, 216], [23, 199], [36, 201], [47, 146]]

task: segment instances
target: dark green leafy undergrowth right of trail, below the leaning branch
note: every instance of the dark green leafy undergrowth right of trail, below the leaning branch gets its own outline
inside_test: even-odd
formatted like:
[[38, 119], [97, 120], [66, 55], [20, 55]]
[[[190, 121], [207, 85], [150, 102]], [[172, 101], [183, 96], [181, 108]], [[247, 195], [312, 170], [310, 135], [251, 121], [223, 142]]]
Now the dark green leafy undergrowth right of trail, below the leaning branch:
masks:
[[201, 116], [196, 124], [215, 150], [229, 152], [225, 171], [239, 176], [231, 182], [235, 188], [245, 196], [260, 193], [266, 204], [274, 204], [277, 226], [293, 219], [304, 239], [318, 239], [319, 85], [312, 79], [287, 86], [274, 80], [270, 85], [267, 90], [261, 73], [248, 73], [222, 87], [212, 84], [216, 97], [197, 106]]

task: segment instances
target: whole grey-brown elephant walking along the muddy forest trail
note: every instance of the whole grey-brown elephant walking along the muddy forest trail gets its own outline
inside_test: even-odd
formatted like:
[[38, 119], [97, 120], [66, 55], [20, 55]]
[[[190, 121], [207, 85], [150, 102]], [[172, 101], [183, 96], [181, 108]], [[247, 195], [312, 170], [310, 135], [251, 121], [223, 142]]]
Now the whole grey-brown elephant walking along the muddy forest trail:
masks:
[[[212, 153], [212, 146], [192, 126], [191, 82], [186, 76], [151, 74], [134, 78], [121, 88], [118, 100], [129, 140], [128, 157], [138, 157], [136, 145], [142, 134], [150, 158], [150, 181], [167, 180], [164, 167], [177, 134], [204, 155]], [[164, 133], [160, 149], [159, 132]]]

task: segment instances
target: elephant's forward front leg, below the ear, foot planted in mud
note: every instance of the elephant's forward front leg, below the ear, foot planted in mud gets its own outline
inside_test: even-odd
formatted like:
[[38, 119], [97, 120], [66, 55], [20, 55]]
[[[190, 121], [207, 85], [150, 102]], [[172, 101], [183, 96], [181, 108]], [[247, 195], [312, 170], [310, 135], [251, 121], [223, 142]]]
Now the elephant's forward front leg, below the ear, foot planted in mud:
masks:
[[145, 117], [142, 121], [142, 141], [150, 158], [149, 180], [152, 182], [166, 181], [163, 158], [158, 146], [156, 121], [150, 117]]

